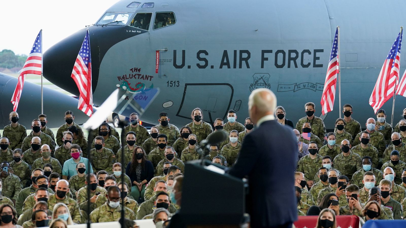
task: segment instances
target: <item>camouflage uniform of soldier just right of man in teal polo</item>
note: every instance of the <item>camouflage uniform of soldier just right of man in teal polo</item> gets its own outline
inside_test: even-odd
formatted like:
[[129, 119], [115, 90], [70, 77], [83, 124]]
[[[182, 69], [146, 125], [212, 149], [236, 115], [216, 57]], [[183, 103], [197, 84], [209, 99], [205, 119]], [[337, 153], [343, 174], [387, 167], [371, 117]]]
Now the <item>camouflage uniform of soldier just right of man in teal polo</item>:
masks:
[[99, 172], [100, 170], [109, 172], [113, 169], [116, 156], [110, 149], [103, 147], [101, 153], [97, 152], [96, 149], [91, 149], [90, 156], [95, 173]]

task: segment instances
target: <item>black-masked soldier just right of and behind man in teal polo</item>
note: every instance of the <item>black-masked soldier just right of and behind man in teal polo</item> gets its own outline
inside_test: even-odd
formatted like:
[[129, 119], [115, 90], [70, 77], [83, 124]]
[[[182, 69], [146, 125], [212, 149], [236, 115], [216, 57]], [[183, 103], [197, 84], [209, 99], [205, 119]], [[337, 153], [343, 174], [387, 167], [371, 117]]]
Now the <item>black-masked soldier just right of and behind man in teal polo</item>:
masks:
[[116, 156], [113, 154], [113, 151], [104, 147], [104, 138], [102, 136], [95, 138], [95, 148], [90, 150], [90, 156], [95, 173], [100, 170], [112, 171]]

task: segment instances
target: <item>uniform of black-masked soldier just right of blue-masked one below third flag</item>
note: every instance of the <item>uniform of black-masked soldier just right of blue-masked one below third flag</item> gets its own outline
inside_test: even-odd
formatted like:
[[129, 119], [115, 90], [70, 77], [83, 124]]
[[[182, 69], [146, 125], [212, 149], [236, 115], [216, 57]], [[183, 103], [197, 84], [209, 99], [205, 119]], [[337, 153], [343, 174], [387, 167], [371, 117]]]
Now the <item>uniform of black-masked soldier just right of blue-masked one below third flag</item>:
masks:
[[350, 151], [348, 157], [345, 157], [343, 153], [341, 153], [334, 158], [333, 166], [334, 168], [341, 170], [341, 175], [346, 175], [351, 181], [354, 172], [362, 168], [361, 157], [352, 151]]

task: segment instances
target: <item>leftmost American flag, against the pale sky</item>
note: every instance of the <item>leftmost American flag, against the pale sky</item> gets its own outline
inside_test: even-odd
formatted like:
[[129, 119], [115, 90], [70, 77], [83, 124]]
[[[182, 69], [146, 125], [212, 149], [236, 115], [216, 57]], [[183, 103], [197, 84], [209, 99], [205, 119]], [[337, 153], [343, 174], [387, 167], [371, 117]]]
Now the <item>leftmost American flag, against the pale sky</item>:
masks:
[[32, 45], [31, 52], [18, 76], [17, 86], [15, 86], [13, 97], [11, 97], [11, 103], [14, 105], [14, 112], [17, 111], [18, 103], [20, 102], [25, 76], [29, 73], [37, 75], [42, 74], [42, 30], [39, 31], [37, 39], [35, 39], [34, 45]]

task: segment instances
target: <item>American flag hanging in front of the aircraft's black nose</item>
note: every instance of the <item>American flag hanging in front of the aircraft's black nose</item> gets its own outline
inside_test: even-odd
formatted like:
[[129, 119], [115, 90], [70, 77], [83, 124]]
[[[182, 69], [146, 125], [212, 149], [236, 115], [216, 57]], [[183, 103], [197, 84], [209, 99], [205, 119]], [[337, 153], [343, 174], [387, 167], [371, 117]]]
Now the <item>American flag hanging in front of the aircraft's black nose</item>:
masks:
[[82, 110], [86, 115], [92, 116], [93, 91], [89, 30], [86, 32], [82, 47], [80, 47], [79, 54], [76, 57], [71, 77], [76, 82], [79, 89], [80, 95], [78, 109]]

